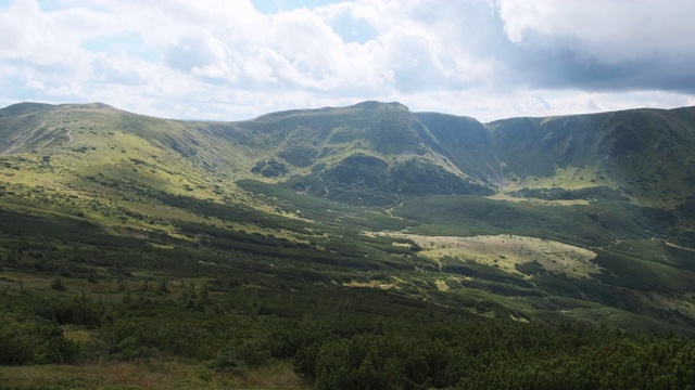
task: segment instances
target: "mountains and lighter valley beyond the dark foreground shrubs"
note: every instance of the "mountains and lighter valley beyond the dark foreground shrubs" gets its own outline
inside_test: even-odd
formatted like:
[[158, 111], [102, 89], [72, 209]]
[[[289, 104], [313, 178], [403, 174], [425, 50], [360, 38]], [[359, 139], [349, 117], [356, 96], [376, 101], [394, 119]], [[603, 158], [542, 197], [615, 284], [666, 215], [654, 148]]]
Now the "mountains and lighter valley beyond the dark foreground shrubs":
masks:
[[0, 255], [17, 234], [233, 250], [480, 313], [692, 333], [693, 151], [695, 107], [481, 123], [363, 102], [220, 122], [21, 103], [0, 109]]

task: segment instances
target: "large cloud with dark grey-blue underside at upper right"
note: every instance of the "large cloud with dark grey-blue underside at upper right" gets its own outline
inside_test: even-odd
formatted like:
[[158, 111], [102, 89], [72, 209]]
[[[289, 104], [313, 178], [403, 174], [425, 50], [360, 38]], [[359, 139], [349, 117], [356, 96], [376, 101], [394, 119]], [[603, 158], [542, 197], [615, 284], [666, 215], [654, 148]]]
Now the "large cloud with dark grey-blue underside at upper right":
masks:
[[498, 0], [514, 76], [544, 88], [695, 92], [695, 3]]

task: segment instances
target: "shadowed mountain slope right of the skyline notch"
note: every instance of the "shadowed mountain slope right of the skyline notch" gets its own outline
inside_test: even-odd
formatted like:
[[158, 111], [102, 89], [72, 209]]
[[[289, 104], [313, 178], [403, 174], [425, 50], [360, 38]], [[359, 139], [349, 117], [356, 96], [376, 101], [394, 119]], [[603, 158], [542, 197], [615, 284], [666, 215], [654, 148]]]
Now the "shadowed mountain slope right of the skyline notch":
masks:
[[515, 118], [489, 128], [508, 177], [552, 178], [574, 169], [574, 178], [555, 184], [603, 183], [642, 203], [673, 205], [695, 190], [694, 113], [691, 107]]

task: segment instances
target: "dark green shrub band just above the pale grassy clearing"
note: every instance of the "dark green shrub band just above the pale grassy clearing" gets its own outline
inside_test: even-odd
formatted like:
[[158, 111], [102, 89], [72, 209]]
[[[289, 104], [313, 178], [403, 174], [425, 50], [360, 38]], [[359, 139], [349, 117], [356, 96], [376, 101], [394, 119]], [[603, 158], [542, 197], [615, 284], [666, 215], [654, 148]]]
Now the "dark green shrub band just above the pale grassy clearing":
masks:
[[[426, 223], [430, 234], [516, 234], [580, 246], [609, 245], [611, 238], [668, 236], [677, 217], [664, 209], [599, 200], [589, 206], [543, 206], [477, 196], [431, 196], [404, 202], [395, 213]], [[458, 233], [455, 233], [458, 232]]]

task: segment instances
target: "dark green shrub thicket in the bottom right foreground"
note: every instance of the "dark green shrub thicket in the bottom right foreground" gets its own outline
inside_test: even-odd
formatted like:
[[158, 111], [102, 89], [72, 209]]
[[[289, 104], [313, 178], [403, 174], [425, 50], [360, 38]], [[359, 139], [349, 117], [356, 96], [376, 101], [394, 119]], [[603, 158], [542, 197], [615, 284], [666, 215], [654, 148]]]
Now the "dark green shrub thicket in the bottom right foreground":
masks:
[[694, 348], [577, 324], [441, 322], [312, 343], [295, 369], [318, 389], [684, 387]]

